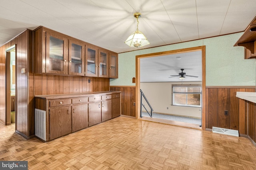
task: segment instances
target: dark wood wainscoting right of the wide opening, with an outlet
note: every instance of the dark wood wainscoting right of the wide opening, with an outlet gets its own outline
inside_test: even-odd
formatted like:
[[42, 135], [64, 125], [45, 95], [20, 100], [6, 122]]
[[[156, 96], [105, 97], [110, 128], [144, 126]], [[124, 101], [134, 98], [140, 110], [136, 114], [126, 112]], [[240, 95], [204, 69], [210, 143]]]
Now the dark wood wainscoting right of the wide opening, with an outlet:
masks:
[[[255, 86], [206, 87], [206, 128], [238, 130], [255, 142], [255, 103], [236, 97], [236, 92], [255, 92]], [[224, 115], [224, 111], [228, 115]]]

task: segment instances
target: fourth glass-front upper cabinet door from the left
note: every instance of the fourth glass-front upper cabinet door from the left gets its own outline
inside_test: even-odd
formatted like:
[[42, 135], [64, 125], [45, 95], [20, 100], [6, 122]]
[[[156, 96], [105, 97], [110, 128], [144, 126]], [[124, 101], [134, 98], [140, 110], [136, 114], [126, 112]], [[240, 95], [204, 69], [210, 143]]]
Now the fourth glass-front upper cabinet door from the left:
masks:
[[98, 61], [98, 76], [99, 77], [108, 77], [108, 53], [102, 50], [99, 50], [99, 61]]

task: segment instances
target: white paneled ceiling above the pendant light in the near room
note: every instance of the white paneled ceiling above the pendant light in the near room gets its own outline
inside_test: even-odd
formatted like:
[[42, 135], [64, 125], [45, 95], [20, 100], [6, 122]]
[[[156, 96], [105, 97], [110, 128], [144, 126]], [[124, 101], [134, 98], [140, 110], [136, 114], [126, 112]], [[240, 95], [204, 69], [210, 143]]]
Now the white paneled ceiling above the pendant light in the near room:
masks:
[[[1, 0], [0, 45], [42, 25], [116, 53], [244, 31], [255, 0]], [[124, 44], [139, 30], [150, 45]]]

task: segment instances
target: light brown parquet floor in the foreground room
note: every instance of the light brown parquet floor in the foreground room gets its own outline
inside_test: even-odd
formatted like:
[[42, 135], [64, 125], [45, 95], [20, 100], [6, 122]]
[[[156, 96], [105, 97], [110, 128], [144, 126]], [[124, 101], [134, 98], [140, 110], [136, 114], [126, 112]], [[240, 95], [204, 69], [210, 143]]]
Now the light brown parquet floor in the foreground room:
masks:
[[0, 125], [0, 160], [27, 160], [31, 170], [255, 170], [256, 147], [245, 137], [117, 117], [47, 143]]

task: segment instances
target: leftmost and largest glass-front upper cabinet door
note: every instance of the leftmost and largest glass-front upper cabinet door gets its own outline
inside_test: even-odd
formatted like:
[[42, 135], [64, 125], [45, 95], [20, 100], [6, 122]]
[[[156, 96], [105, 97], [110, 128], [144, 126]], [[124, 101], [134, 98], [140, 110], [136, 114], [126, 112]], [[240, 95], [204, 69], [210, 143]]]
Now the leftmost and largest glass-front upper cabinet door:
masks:
[[68, 74], [68, 39], [46, 32], [46, 73]]

